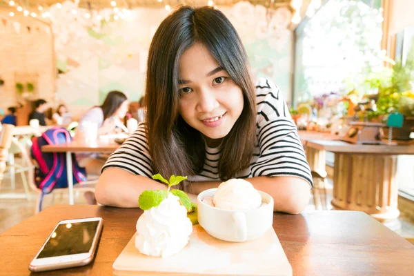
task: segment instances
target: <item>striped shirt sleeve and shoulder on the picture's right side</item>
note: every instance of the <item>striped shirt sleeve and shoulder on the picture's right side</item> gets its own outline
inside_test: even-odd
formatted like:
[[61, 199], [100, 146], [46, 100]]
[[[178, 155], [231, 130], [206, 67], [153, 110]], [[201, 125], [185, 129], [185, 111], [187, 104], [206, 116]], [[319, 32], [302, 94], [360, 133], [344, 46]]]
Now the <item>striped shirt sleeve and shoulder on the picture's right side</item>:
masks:
[[260, 155], [252, 164], [253, 177], [300, 177], [312, 187], [311, 170], [282, 92], [267, 79], [259, 79], [256, 89]]

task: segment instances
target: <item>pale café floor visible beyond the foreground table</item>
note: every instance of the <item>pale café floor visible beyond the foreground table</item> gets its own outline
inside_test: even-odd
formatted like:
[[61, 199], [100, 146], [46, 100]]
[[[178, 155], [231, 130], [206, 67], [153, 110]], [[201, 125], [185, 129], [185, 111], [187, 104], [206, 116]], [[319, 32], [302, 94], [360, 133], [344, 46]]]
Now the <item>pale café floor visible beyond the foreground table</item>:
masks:
[[[328, 209], [331, 209], [330, 204], [332, 200], [332, 181], [328, 179], [327, 181], [327, 201]], [[8, 228], [19, 224], [19, 222], [24, 219], [28, 219], [34, 215], [34, 208], [36, 206], [37, 193], [31, 192], [30, 198], [19, 198], [19, 199], [5, 199], [3, 197], [11, 197], [12, 195], [24, 195], [23, 186], [21, 184], [21, 179], [17, 177], [16, 190], [11, 190], [10, 188], [10, 179], [6, 177], [3, 179], [3, 182], [0, 186], [0, 233]], [[43, 199], [43, 209], [48, 208], [52, 204], [68, 204], [68, 195], [66, 190], [55, 190], [54, 195], [47, 195]], [[82, 193], [75, 194], [75, 204], [86, 204], [86, 200], [83, 197]], [[313, 212], [315, 206], [313, 205], [313, 199], [309, 202], [308, 207], [304, 212]], [[414, 240], [414, 218], [400, 217], [399, 221], [402, 225], [400, 230], [397, 230], [396, 233], [402, 237]]]

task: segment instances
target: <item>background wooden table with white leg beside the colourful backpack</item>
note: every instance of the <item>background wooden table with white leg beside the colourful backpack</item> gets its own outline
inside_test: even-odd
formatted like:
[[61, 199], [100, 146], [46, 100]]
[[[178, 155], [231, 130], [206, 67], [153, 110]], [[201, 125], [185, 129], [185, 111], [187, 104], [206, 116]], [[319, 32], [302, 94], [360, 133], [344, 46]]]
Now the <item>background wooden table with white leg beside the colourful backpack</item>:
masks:
[[41, 147], [42, 152], [66, 152], [66, 170], [68, 171], [69, 204], [74, 204], [72, 153], [75, 152], [106, 152], [111, 153], [119, 148], [115, 141], [95, 141], [91, 143], [72, 141], [68, 144], [46, 145]]

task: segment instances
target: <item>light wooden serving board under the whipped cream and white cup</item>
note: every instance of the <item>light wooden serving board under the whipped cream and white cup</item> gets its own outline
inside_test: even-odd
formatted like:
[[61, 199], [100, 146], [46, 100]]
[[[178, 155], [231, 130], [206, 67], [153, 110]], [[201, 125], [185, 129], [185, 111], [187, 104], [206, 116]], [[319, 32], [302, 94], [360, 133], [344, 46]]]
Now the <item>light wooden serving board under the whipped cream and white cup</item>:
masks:
[[136, 235], [115, 260], [115, 275], [292, 275], [273, 228], [252, 241], [235, 243], [216, 239], [196, 225], [187, 246], [166, 258], [139, 253]]

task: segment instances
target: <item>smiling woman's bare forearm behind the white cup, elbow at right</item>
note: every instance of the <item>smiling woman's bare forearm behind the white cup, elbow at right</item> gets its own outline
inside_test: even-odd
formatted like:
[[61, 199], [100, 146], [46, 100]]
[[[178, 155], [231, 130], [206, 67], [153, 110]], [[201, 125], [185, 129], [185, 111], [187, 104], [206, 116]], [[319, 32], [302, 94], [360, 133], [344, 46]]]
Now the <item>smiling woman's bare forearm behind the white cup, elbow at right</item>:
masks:
[[[271, 195], [275, 201], [273, 210], [298, 214], [306, 208], [311, 195], [308, 182], [298, 177], [252, 177], [249, 181], [256, 190], [262, 190]], [[217, 188], [220, 181], [202, 181], [190, 184], [190, 192], [196, 195], [203, 190]]]

